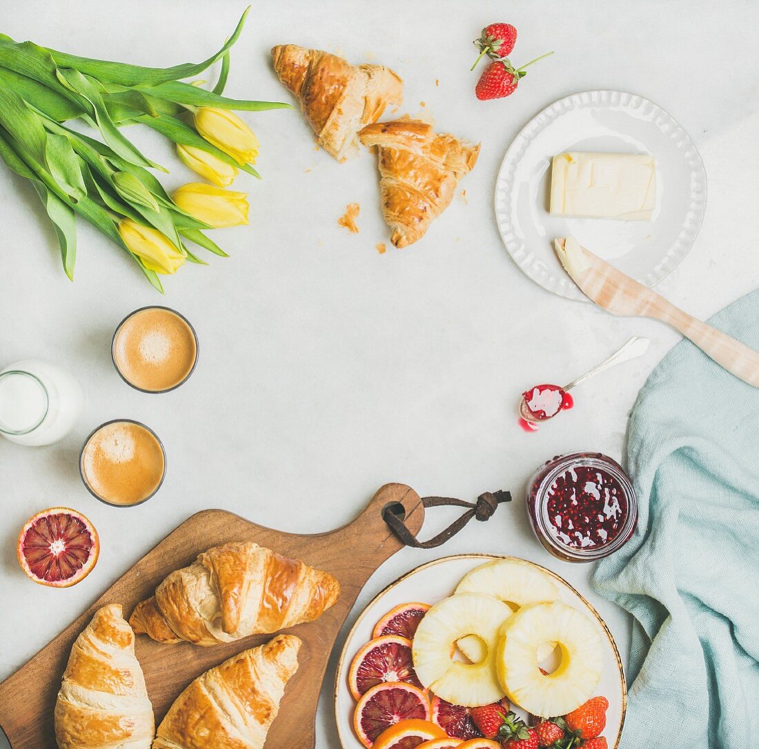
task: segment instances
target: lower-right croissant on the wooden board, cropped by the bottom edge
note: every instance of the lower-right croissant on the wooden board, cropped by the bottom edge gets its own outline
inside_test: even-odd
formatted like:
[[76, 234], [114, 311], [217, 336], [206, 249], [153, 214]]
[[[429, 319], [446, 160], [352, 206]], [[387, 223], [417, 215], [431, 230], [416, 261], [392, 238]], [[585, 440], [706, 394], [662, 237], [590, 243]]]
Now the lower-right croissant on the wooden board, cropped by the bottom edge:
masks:
[[206, 671], [168, 709], [153, 749], [262, 749], [300, 647], [282, 634]]

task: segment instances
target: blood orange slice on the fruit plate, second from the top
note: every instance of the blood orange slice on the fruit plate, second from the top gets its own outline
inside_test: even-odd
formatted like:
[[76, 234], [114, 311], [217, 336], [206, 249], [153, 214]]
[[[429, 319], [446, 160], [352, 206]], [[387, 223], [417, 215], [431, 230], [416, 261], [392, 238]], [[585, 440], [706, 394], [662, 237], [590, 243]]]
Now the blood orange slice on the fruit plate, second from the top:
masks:
[[354, 700], [385, 681], [405, 681], [422, 688], [414, 671], [411, 640], [395, 635], [369, 640], [356, 653], [348, 669], [348, 688]]

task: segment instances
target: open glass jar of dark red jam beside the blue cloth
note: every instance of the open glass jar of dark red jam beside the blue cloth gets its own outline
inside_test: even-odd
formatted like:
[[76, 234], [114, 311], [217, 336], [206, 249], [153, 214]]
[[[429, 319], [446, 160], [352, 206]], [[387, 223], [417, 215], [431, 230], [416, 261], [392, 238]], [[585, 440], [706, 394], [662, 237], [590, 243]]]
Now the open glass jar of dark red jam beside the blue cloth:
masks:
[[527, 511], [540, 543], [565, 562], [594, 562], [630, 540], [638, 501], [622, 467], [600, 452], [560, 455], [527, 488]]

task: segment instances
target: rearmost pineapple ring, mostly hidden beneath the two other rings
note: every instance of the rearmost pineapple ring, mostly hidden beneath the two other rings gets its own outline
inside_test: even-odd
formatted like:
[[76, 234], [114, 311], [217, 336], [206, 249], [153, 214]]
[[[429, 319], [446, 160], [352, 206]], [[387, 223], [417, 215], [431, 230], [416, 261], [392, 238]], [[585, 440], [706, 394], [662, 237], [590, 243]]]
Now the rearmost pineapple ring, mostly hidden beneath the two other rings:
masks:
[[[512, 611], [518, 611], [531, 603], [555, 601], [559, 598], [559, 586], [550, 574], [523, 559], [495, 559], [465, 574], [454, 595], [460, 593], [493, 596], [503, 601]], [[537, 659], [542, 663], [555, 648], [556, 643], [544, 643], [537, 653]], [[458, 641], [458, 649], [473, 663], [479, 663], [485, 656], [477, 637], [463, 637]]]

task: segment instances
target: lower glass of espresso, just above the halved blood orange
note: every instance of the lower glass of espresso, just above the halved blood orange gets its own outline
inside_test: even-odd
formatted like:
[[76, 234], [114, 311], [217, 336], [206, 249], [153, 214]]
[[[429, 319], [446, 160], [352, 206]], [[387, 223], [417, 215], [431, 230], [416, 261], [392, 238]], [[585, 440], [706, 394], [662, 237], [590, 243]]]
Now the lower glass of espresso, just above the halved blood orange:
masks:
[[79, 458], [84, 486], [115, 507], [146, 502], [166, 475], [166, 454], [160, 439], [144, 424], [130, 419], [108, 421], [84, 443]]

